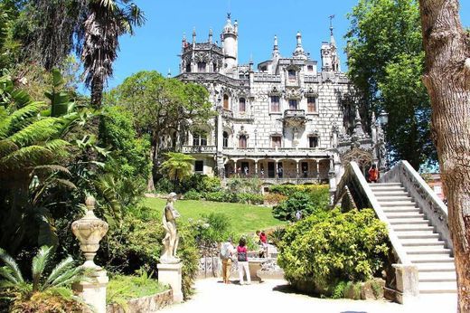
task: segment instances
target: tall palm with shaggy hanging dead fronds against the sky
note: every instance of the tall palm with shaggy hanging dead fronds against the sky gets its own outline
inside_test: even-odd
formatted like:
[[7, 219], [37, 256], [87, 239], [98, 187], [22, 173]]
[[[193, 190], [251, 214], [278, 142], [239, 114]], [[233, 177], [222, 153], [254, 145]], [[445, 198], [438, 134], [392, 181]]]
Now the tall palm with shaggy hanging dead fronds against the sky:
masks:
[[118, 37], [133, 34], [135, 26], [144, 24], [145, 16], [129, 0], [89, 0], [88, 9], [81, 59], [85, 84], [91, 88], [91, 104], [99, 108], [105, 82], [112, 76], [112, 64], [118, 57]]

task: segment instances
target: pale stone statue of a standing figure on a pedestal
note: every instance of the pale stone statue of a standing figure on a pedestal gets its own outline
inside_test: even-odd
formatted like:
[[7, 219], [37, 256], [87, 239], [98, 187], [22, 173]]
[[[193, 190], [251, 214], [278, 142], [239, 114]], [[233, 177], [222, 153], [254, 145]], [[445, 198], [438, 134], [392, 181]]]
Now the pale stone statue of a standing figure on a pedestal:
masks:
[[174, 209], [174, 201], [176, 194], [168, 194], [168, 200], [164, 206], [164, 213], [162, 222], [164, 224], [164, 252], [160, 258], [161, 263], [173, 264], [180, 261], [176, 257], [176, 250], [178, 249], [179, 236], [176, 232], [176, 218], [180, 217], [180, 213]]

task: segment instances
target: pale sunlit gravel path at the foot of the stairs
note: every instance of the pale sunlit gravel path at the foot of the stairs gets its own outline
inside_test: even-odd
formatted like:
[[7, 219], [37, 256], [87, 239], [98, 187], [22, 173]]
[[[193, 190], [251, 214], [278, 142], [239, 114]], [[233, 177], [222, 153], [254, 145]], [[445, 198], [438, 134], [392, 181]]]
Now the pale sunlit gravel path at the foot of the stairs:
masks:
[[456, 296], [432, 296], [416, 303], [400, 305], [389, 301], [318, 299], [297, 294], [285, 280], [267, 280], [240, 286], [222, 284], [217, 279], [198, 280], [193, 299], [164, 308], [162, 312], [251, 313], [251, 312], [332, 312], [332, 313], [418, 313], [456, 312]]

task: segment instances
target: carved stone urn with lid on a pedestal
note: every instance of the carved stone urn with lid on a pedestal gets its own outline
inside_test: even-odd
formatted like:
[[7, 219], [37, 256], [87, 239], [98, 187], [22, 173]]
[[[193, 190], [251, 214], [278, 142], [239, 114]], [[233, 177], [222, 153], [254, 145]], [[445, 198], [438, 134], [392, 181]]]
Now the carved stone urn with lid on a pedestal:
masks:
[[99, 249], [99, 241], [108, 232], [108, 223], [101, 221], [93, 213], [96, 204], [94, 197], [88, 196], [85, 204], [87, 213], [80, 220], [71, 223], [71, 231], [80, 241], [80, 249], [85, 255], [86, 261], [83, 263], [83, 267], [101, 270], [93, 259]]

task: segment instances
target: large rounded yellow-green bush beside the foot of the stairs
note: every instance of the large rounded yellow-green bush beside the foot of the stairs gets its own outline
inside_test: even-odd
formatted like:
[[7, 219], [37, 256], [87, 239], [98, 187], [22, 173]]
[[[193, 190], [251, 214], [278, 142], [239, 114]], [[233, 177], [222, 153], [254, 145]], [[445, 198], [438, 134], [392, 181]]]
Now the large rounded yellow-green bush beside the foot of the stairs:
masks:
[[295, 286], [331, 294], [339, 281], [365, 281], [384, 266], [387, 227], [371, 209], [319, 211], [287, 227], [278, 264]]

